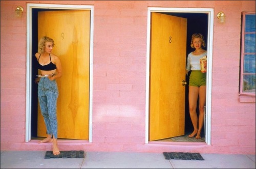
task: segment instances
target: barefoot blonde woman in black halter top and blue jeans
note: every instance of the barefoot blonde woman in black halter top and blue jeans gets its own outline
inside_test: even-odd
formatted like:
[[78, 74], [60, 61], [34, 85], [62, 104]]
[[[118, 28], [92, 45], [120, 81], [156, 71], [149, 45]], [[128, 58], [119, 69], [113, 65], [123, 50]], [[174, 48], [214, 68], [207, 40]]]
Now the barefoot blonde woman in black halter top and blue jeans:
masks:
[[55, 79], [62, 76], [62, 70], [59, 58], [51, 53], [53, 46], [53, 39], [42, 37], [38, 42], [38, 52], [35, 57], [41, 74], [38, 82], [38, 100], [47, 128], [47, 137], [39, 143], [53, 142], [53, 154], [58, 155], [60, 152], [57, 145], [56, 110], [59, 92]]

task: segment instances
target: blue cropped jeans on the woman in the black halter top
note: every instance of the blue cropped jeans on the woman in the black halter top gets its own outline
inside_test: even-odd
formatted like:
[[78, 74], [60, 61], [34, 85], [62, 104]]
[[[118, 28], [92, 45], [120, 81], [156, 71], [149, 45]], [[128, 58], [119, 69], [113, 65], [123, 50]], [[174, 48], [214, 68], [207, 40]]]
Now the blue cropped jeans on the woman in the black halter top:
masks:
[[41, 114], [44, 117], [47, 134], [53, 134], [57, 138], [57, 98], [58, 86], [56, 80], [47, 77], [40, 78], [38, 83], [38, 100]]

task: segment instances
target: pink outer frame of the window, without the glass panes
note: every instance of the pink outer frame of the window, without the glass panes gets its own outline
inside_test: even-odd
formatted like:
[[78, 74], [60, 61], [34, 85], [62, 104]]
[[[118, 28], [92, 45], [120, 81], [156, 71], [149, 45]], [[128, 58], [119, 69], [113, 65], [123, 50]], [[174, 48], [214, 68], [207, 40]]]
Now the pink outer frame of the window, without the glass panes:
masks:
[[242, 24], [242, 48], [241, 48], [241, 73], [240, 73], [240, 95], [251, 95], [251, 96], [255, 96], [255, 93], [252, 92], [243, 92], [244, 86], [243, 86], [243, 82], [244, 82], [244, 55], [247, 54], [244, 52], [244, 38], [245, 38], [245, 15], [247, 14], [255, 14], [255, 12], [243, 12], [242, 16], [243, 16], [243, 24]]

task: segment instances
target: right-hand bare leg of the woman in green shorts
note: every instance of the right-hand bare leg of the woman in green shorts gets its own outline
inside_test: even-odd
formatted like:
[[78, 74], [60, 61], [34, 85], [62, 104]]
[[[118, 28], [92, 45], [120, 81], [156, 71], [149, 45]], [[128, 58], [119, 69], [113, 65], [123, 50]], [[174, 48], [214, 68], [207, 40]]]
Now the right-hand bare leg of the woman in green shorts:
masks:
[[200, 86], [199, 88], [199, 120], [198, 120], [198, 132], [196, 138], [201, 138], [201, 131], [204, 125], [204, 106], [206, 102], [206, 86]]

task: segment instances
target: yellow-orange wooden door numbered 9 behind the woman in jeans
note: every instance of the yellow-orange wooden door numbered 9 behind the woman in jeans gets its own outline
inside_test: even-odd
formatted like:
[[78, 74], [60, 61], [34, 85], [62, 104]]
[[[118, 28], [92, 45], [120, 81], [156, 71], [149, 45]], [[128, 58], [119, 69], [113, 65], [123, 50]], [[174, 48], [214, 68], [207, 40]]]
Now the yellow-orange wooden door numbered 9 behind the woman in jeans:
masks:
[[[38, 39], [54, 40], [53, 53], [62, 66], [57, 79], [58, 138], [89, 139], [90, 11], [38, 12]], [[37, 135], [46, 127], [38, 104]]]

